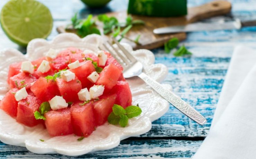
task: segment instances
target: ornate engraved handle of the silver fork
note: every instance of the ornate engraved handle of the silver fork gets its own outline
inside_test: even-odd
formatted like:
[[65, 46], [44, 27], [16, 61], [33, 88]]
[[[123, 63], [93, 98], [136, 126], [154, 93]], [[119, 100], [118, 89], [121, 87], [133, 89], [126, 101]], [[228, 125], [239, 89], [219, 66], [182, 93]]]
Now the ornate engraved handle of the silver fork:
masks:
[[174, 94], [173, 92], [165, 89], [160, 83], [156, 82], [152, 78], [150, 78], [145, 73], [141, 73], [138, 75], [144, 82], [146, 82], [150, 87], [152, 87], [158, 94], [160, 94], [166, 101], [171, 103], [174, 107], [176, 107], [183, 114], [188, 116], [190, 119], [195, 122], [203, 125], [207, 120], [192, 106], [183, 101], [179, 96]]

